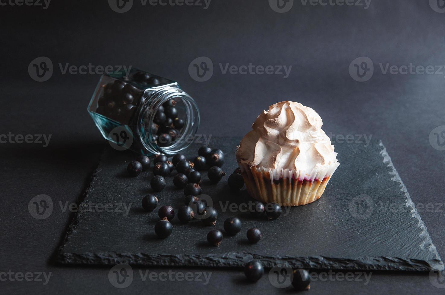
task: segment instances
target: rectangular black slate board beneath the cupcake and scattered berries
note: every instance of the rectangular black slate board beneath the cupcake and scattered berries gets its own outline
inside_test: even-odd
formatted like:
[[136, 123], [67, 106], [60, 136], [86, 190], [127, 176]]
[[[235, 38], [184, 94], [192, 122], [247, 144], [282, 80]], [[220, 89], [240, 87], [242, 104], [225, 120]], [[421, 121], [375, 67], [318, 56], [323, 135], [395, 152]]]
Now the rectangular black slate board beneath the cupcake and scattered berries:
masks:
[[[221, 148], [226, 155], [223, 169], [228, 175], [237, 167], [235, 147], [240, 138], [212, 138], [210, 147]], [[185, 154], [193, 159], [200, 145], [192, 145]], [[152, 172], [137, 178], [126, 173], [126, 164], [134, 157], [130, 152], [106, 148], [81, 208], [88, 203], [127, 203], [129, 214], [122, 212], [77, 212], [68, 228], [65, 240], [57, 251], [57, 259], [65, 264], [129, 263], [144, 266], [205, 266], [239, 267], [252, 259], [265, 267], [288, 263], [293, 267], [311, 269], [356, 270], [441, 270], [444, 265], [428, 232], [413, 207], [406, 187], [383, 144], [336, 144], [340, 167], [335, 172], [324, 195], [318, 201], [292, 207], [276, 220], [252, 219], [248, 213], [223, 212], [221, 204], [240, 204], [252, 200], [245, 187], [233, 193], [227, 186], [227, 176], [218, 185], [208, 182], [203, 172], [203, 193], [210, 195], [218, 210], [216, 228], [223, 230], [223, 221], [239, 216], [242, 231], [225, 236], [219, 247], [206, 243], [206, 227], [196, 220], [189, 224], [172, 221], [174, 231], [167, 239], [154, 235], [157, 210], [147, 213], [141, 199], [151, 193]], [[173, 172], [174, 175], [176, 172]], [[182, 190], [173, 186], [173, 177], [161, 193], [158, 207], [183, 203]], [[357, 215], [356, 206], [368, 195], [373, 209]], [[360, 199], [361, 198], [361, 199]], [[219, 203], [221, 201], [222, 203]], [[358, 203], [357, 203], [358, 202]], [[395, 203], [401, 210], [390, 209]], [[117, 205], [116, 205], [117, 206]], [[394, 205], [392, 205], [394, 206]], [[115, 207], [116, 208], [116, 207]], [[246, 231], [258, 227], [263, 239], [249, 244]]]

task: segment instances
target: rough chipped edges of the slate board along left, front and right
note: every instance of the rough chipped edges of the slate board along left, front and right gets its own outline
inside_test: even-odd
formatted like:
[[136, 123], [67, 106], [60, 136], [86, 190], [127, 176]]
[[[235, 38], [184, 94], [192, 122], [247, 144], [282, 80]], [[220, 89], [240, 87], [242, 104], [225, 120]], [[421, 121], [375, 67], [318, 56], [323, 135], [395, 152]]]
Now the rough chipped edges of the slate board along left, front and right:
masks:
[[[57, 250], [57, 262], [67, 265], [115, 265], [118, 263], [128, 263], [131, 265], [140, 266], [202, 266], [202, 267], [242, 267], [246, 262], [257, 259], [260, 260], [265, 267], [273, 267], [279, 263], [287, 263], [292, 267], [310, 268], [310, 269], [348, 269], [348, 270], [399, 270], [399, 271], [430, 271], [430, 270], [443, 270], [444, 264], [441, 261], [436, 247], [434, 246], [428, 231], [426, 230], [425, 223], [421, 220], [414, 203], [409, 196], [409, 193], [405, 187], [405, 184], [400, 178], [399, 173], [392, 164], [391, 157], [388, 155], [386, 148], [380, 141], [382, 150], [380, 155], [383, 157], [383, 163], [387, 164], [392, 171], [389, 172], [392, 175], [392, 180], [400, 184], [401, 191], [405, 193], [406, 206], [411, 207], [411, 213], [413, 218], [417, 218], [419, 221], [418, 226], [421, 228], [421, 235], [424, 236], [424, 243], [419, 245], [423, 249], [430, 251], [437, 259], [432, 260], [419, 260], [419, 259], [401, 259], [397, 257], [383, 257], [383, 256], [362, 256], [355, 259], [344, 259], [335, 257], [324, 256], [311, 256], [311, 257], [267, 257], [262, 255], [255, 255], [253, 253], [237, 253], [231, 252], [223, 255], [162, 255], [162, 254], [144, 254], [144, 253], [71, 253], [65, 252], [64, 247], [68, 242], [70, 235], [74, 231], [84, 216], [84, 212], [77, 211], [71, 221], [65, 239], [61, 246]], [[99, 161], [100, 163], [100, 161]], [[89, 187], [84, 194], [84, 200], [80, 204], [87, 206], [86, 197], [89, 191], [93, 190], [93, 184], [96, 179], [96, 175], [101, 171], [98, 167], [94, 171]], [[426, 245], [426, 246], [425, 246]], [[378, 261], [378, 264], [375, 264]]]

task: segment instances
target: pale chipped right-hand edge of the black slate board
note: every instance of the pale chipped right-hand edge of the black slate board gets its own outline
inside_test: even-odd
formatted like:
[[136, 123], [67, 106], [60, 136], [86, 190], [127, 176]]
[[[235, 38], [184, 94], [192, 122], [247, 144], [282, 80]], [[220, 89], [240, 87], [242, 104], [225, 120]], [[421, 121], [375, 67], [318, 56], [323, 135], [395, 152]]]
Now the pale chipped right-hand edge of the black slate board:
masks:
[[390, 167], [392, 169], [392, 171], [389, 172], [389, 174], [392, 175], [391, 180], [399, 183], [400, 190], [405, 193], [406, 207], [409, 207], [411, 209], [412, 217], [417, 219], [417, 221], [418, 221], [417, 226], [422, 230], [420, 235], [424, 237], [424, 242], [421, 245], [419, 245], [419, 247], [421, 247], [422, 249], [425, 249], [427, 251], [430, 251], [436, 257], [436, 259], [433, 260], [433, 261], [436, 261], [436, 263], [434, 263], [432, 265], [432, 269], [439, 270], [439, 271], [444, 270], [444, 264], [439, 256], [439, 253], [437, 252], [436, 246], [434, 246], [433, 241], [431, 240], [431, 237], [429, 236], [429, 233], [426, 229], [425, 223], [422, 221], [422, 219], [419, 215], [419, 212], [417, 212], [417, 209], [413, 203], [413, 200], [411, 199], [411, 196], [409, 195], [409, 192], [408, 192], [405, 184], [403, 183], [403, 181], [399, 175], [399, 172], [397, 172], [396, 167], [394, 167], [391, 157], [389, 156], [388, 151], [386, 151], [386, 147], [384, 146], [384, 144], [382, 143], [381, 140], [380, 140], [379, 145], [382, 147], [382, 150], [380, 151], [380, 155], [382, 155], [382, 157], [383, 157], [383, 163], [387, 164], [387, 167]]

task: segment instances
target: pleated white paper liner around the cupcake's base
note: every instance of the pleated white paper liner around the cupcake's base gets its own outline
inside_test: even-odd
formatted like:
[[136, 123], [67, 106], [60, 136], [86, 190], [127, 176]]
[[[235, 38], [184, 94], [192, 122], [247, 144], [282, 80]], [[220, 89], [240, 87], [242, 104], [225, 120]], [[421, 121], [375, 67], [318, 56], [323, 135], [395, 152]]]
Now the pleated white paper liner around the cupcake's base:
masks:
[[263, 203], [301, 206], [320, 199], [340, 163], [312, 171], [250, 167], [238, 163], [247, 192]]

